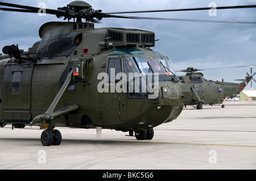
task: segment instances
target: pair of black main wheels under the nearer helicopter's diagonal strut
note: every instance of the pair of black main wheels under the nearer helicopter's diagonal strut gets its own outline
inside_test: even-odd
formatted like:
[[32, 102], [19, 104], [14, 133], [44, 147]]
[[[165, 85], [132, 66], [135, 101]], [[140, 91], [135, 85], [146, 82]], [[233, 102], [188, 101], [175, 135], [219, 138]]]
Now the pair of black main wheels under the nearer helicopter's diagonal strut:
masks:
[[61, 140], [61, 133], [57, 129], [53, 129], [53, 131], [46, 129], [41, 134], [41, 142], [43, 146], [60, 145]]

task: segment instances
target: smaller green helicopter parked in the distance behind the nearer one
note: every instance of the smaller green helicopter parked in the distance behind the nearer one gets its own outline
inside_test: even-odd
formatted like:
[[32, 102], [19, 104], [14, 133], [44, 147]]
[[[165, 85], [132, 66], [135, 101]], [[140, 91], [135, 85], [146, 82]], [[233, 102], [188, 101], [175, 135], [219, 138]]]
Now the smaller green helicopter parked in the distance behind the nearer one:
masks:
[[[218, 68], [219, 69], [219, 68]], [[191, 87], [191, 102], [187, 105], [196, 105], [197, 110], [203, 108], [203, 104], [221, 104], [221, 107], [224, 108], [225, 105], [222, 104], [226, 96], [232, 96], [234, 94], [240, 93], [245, 89], [247, 83], [250, 81], [255, 81], [253, 76], [252, 66], [251, 74], [247, 73], [245, 79], [237, 79], [235, 81], [242, 81], [241, 83], [231, 83], [231, 82], [222, 82], [207, 80], [204, 78], [203, 73], [196, 73], [196, 71], [207, 70], [207, 69], [195, 69], [193, 67], [188, 67], [184, 70], [177, 70], [180, 72], [186, 73], [186, 75], [178, 76], [181, 79], [181, 82], [185, 85]], [[251, 82], [252, 83], [252, 82]]]

